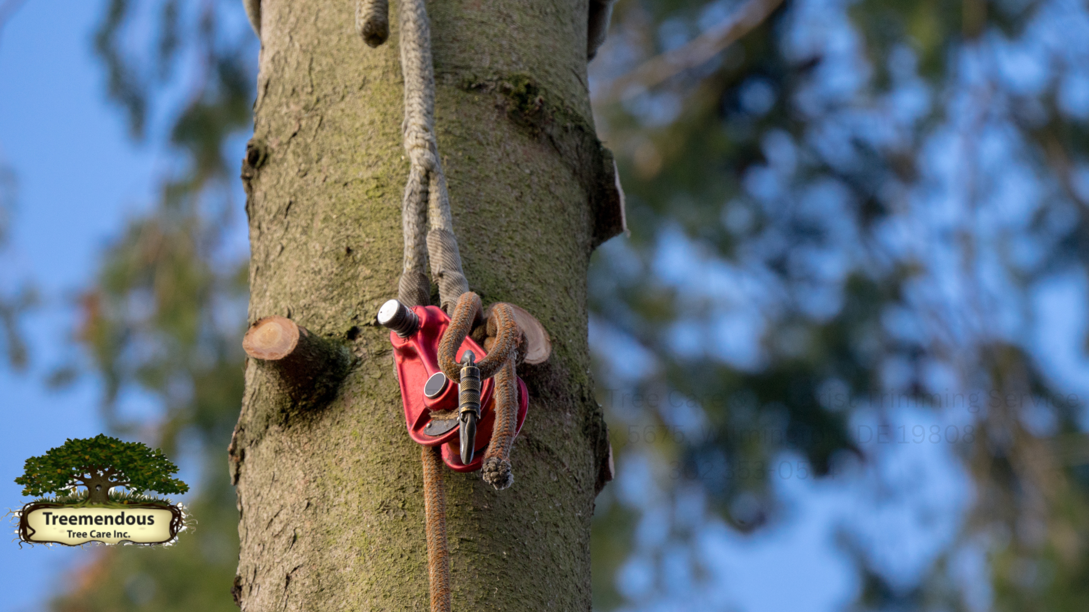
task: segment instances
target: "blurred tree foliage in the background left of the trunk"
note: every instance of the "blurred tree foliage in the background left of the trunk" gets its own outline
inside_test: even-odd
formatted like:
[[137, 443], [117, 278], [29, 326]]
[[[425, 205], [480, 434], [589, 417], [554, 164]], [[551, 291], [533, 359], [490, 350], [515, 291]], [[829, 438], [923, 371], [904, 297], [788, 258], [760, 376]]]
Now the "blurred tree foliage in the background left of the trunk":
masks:
[[[105, 380], [109, 428], [196, 466], [186, 479], [197, 525], [171, 548], [96, 550], [52, 608], [235, 610], [225, 449], [242, 399], [247, 294], [246, 261], [229, 235], [242, 209], [237, 160], [224, 150], [252, 126], [257, 42], [237, 1], [109, 0], [105, 9], [94, 49], [109, 99], [135, 139], [164, 149], [157, 155], [171, 170], [159, 200], [106, 252], [81, 299], [77, 336]], [[148, 396], [162, 407], [157, 417], [124, 416], [126, 401]]]

